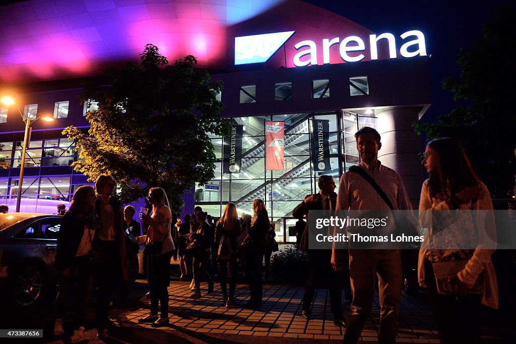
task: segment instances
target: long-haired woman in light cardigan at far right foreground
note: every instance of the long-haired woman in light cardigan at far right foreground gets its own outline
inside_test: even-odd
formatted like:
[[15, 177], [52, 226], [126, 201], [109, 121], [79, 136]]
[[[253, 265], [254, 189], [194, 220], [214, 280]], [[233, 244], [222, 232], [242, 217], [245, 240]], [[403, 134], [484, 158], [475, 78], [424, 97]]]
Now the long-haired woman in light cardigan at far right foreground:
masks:
[[420, 222], [427, 232], [419, 282], [427, 287], [441, 342], [477, 343], [480, 305], [498, 306], [491, 197], [454, 138], [431, 141], [422, 164], [430, 178], [420, 200]]

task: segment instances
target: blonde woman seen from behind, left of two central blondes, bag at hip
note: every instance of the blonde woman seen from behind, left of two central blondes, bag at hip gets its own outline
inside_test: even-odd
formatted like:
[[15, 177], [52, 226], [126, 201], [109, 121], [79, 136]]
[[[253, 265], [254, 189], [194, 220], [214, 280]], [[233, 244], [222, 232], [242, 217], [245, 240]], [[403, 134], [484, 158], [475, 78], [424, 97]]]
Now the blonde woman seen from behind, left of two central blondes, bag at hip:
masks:
[[[234, 306], [234, 294], [236, 289], [236, 278], [238, 277], [238, 262], [237, 257], [237, 241], [236, 238], [240, 235], [240, 220], [238, 220], [238, 213], [234, 203], [228, 203], [225, 205], [222, 217], [215, 226], [215, 247], [224, 248], [225, 251], [229, 249], [231, 254], [225, 257], [218, 256], [217, 261], [219, 263], [219, 278], [220, 278], [220, 290], [224, 298], [224, 303], [227, 308]], [[222, 242], [222, 244], [221, 244]], [[222, 246], [221, 246], [222, 245]], [[228, 247], [229, 245], [229, 247]], [[220, 252], [224, 254], [226, 252]], [[231, 272], [231, 279], [229, 282], [229, 296], [228, 287], [226, 285], [226, 274], [229, 269]]]

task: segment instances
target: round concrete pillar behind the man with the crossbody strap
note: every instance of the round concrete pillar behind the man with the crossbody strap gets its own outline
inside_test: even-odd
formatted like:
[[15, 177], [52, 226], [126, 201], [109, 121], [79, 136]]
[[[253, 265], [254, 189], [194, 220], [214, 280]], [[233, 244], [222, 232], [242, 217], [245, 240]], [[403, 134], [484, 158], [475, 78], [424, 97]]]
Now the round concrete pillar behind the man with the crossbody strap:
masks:
[[421, 152], [421, 140], [414, 132], [412, 123], [418, 121], [418, 109], [391, 108], [376, 117], [376, 129], [381, 135], [382, 143], [382, 148], [378, 151], [378, 160], [401, 176], [412, 207], [417, 209], [423, 184], [423, 171], [418, 156]]

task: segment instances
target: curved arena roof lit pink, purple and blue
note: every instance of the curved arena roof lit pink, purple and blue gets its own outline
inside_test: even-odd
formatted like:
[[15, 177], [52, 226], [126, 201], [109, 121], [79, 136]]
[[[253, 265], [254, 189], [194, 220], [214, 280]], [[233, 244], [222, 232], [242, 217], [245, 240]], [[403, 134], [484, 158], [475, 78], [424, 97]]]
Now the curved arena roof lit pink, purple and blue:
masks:
[[[11, 85], [102, 74], [138, 60], [147, 43], [171, 62], [191, 54], [200, 67], [239, 70], [236, 36], [296, 30], [297, 42], [321, 44], [370, 34], [299, 0], [34, 0], [0, 9], [0, 83]], [[293, 67], [294, 44], [287, 41], [266, 68]], [[338, 54], [338, 44], [330, 51]]]

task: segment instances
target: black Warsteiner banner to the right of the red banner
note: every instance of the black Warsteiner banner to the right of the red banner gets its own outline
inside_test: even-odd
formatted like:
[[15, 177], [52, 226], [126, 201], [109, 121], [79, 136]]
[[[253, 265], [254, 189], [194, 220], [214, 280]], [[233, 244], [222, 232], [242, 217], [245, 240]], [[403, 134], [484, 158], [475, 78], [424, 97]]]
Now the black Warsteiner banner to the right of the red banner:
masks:
[[316, 171], [326, 171], [330, 168], [330, 144], [328, 139], [330, 131], [329, 120], [312, 119], [312, 164]]

